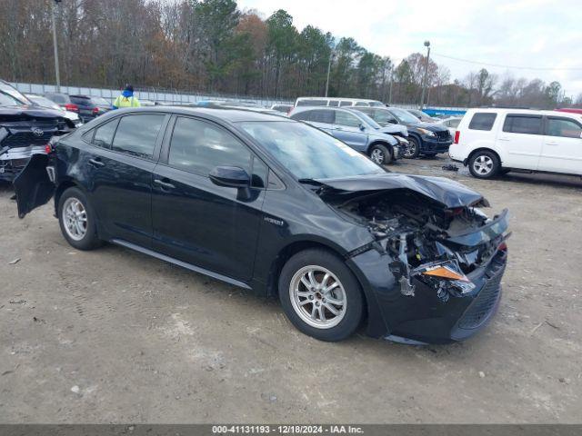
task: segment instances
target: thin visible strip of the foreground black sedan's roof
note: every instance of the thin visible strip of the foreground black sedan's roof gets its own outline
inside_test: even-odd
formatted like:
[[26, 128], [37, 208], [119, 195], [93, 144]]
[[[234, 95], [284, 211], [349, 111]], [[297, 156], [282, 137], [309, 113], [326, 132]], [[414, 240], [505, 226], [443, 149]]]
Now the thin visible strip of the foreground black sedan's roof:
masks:
[[[203, 115], [206, 118], [216, 118], [220, 120], [226, 120], [230, 123], [239, 123], [245, 121], [286, 121], [294, 122], [287, 118], [286, 116], [278, 114], [264, 114], [262, 112], [248, 111], [245, 109], [231, 109], [231, 108], [220, 108], [220, 107], [191, 107], [191, 106], [178, 106], [178, 105], [157, 105], [157, 106], [146, 106], [146, 107], [134, 107], [117, 109], [111, 111], [108, 114], [115, 116], [115, 114], [139, 114], [142, 112], [153, 113], [159, 112], [162, 114], [172, 113], [172, 114], [185, 114], [185, 115]], [[106, 116], [101, 115], [101, 116]], [[108, 118], [108, 117], [107, 117]]]

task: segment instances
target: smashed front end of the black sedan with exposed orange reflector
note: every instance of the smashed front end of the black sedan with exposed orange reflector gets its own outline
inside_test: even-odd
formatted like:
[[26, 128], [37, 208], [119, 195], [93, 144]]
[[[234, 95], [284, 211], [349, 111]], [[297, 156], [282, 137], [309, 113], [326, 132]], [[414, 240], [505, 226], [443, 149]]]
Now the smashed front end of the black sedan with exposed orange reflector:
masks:
[[[479, 209], [488, 206], [487, 200], [448, 179], [390, 173], [367, 179], [321, 180], [318, 193], [336, 211], [365, 225], [373, 237], [353, 254], [379, 253], [400, 295], [395, 298], [393, 291], [385, 298], [398, 308], [396, 313], [385, 311], [390, 339], [464, 339], [497, 308], [507, 258], [507, 210], [488, 218]], [[497, 283], [495, 292], [489, 292], [487, 302], [477, 302], [491, 280]], [[474, 300], [480, 305], [477, 318], [465, 322], [467, 332], [456, 332]], [[438, 324], [438, 334], [447, 338], [435, 340], [418, 325], [412, 332], [400, 328], [420, 320], [429, 320], [426, 328]]]

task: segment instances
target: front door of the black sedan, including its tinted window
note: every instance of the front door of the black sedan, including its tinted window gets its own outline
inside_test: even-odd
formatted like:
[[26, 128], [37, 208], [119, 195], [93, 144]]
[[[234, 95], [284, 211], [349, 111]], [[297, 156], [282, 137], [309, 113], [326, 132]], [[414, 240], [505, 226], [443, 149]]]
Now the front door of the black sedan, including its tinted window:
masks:
[[[246, 192], [217, 186], [216, 166], [252, 175]], [[224, 127], [179, 116], [156, 165], [154, 249], [237, 280], [252, 277], [267, 168]]]

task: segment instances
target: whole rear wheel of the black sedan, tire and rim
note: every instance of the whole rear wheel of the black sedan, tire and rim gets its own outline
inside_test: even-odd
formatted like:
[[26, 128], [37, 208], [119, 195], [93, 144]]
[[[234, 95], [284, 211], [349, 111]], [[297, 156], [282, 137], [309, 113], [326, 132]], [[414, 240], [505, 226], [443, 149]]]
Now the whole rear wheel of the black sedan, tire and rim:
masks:
[[68, 188], [58, 201], [57, 212], [67, 243], [79, 250], [93, 250], [101, 245], [95, 227], [95, 214], [83, 191]]

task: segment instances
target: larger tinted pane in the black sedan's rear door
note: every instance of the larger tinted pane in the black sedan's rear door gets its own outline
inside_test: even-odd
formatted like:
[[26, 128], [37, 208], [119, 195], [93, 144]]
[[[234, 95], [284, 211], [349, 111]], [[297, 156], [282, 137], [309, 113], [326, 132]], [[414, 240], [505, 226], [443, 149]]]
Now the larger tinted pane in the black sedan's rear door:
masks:
[[124, 116], [115, 132], [112, 150], [151, 159], [164, 116], [163, 114]]

